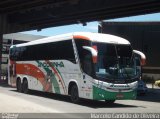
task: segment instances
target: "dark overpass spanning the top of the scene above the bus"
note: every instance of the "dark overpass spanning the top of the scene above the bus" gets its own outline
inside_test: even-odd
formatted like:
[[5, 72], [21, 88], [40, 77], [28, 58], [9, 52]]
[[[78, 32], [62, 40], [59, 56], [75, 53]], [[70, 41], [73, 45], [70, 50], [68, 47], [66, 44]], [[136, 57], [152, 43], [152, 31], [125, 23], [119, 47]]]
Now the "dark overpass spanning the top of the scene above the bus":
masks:
[[160, 0], [4, 0], [0, 32], [41, 30], [68, 24], [160, 11]]

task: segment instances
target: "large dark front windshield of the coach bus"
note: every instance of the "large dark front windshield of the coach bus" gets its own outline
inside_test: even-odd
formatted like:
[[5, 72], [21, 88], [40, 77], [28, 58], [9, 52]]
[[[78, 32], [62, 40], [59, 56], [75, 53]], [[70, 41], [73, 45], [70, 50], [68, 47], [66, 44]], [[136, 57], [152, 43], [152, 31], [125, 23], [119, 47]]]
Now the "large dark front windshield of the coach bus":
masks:
[[98, 50], [95, 64], [97, 78], [132, 79], [136, 76], [136, 66], [130, 45], [94, 43]]

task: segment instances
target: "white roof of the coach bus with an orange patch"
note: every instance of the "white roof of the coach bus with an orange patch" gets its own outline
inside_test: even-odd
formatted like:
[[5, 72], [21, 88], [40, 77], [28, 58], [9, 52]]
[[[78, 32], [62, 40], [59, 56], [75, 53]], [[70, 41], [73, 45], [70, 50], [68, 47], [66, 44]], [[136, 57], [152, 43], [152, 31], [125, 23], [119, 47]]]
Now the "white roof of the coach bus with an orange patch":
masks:
[[30, 41], [27, 43], [18, 44], [16, 45], [16, 47], [36, 45], [36, 44], [56, 42], [56, 41], [64, 41], [64, 40], [69, 40], [73, 38], [90, 40], [92, 42], [102, 42], [102, 43], [111, 43], [111, 44], [130, 44], [130, 42], [127, 41], [126, 39], [118, 36], [110, 35], [110, 34], [91, 33], [91, 32], [74, 32], [74, 33], [56, 35], [56, 36], [51, 36], [51, 37]]

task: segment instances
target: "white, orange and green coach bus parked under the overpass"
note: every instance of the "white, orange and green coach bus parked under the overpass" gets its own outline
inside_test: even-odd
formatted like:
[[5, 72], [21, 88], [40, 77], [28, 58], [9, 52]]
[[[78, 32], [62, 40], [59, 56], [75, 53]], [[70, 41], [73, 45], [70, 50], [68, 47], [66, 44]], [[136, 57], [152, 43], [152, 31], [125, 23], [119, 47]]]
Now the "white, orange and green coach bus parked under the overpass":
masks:
[[10, 48], [17, 91], [28, 90], [105, 100], [135, 99], [140, 77], [135, 53], [126, 39], [100, 33], [75, 32]]

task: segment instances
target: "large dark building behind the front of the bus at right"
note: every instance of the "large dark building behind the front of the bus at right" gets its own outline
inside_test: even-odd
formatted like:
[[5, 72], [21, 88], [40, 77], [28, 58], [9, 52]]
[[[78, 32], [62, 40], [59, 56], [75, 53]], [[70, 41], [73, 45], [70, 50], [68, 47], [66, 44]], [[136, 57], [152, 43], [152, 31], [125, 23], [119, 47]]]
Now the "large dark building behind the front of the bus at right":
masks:
[[147, 57], [143, 78], [160, 79], [160, 22], [101, 22], [98, 29], [129, 40]]

